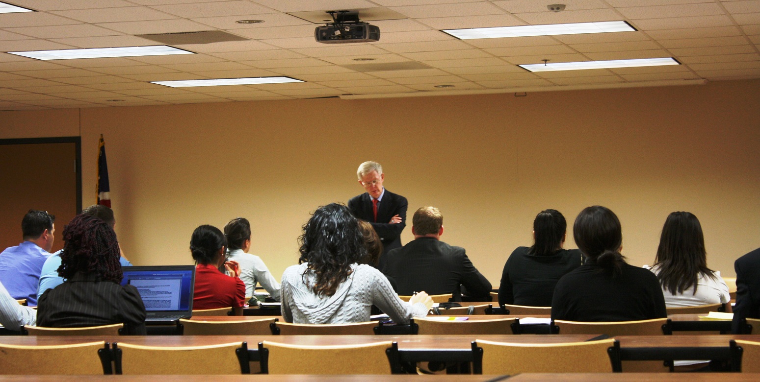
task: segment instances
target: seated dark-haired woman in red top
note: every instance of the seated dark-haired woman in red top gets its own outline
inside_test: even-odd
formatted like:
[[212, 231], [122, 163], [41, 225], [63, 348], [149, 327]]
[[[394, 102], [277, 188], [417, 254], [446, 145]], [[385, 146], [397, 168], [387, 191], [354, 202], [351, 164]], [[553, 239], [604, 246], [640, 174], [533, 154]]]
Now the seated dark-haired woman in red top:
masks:
[[[202, 225], [195, 228], [190, 239], [195, 266], [195, 294], [193, 309], [232, 308], [242, 315], [245, 305], [245, 283], [240, 280], [237, 261], [225, 261], [226, 240], [217, 227]], [[224, 265], [232, 277], [219, 271]]]

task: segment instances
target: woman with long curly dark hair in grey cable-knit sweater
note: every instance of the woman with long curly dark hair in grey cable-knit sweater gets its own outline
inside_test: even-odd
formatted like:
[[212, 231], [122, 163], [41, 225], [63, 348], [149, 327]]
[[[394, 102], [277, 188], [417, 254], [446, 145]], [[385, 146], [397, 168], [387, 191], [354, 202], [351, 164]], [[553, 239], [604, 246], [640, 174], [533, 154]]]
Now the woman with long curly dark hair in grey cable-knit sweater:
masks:
[[397, 324], [425, 317], [432, 299], [420, 292], [410, 302], [398, 298], [388, 279], [366, 261], [356, 218], [345, 205], [317, 209], [303, 226], [300, 265], [282, 278], [282, 313], [296, 324], [347, 324], [369, 321], [377, 305]]

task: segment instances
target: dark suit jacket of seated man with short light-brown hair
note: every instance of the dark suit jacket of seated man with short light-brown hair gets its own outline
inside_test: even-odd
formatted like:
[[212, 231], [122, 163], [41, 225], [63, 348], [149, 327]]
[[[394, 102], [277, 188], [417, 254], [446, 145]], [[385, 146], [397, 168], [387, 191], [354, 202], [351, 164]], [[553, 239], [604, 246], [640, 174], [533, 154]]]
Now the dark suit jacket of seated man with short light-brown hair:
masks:
[[395, 280], [396, 292], [403, 296], [424, 290], [430, 295], [452, 293], [458, 301], [460, 285], [470, 296], [489, 296], [491, 292], [491, 283], [473, 266], [464, 248], [433, 237], [410, 241], [385, 257], [382, 272]]

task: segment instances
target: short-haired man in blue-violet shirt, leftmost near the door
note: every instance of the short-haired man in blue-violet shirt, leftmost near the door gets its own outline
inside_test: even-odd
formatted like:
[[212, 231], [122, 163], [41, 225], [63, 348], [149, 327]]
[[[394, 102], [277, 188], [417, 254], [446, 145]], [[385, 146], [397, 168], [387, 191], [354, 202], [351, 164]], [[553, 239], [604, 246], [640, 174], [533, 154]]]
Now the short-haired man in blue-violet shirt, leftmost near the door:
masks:
[[21, 220], [24, 243], [0, 253], [0, 282], [14, 299], [27, 299], [30, 306], [37, 305], [40, 272], [55, 240], [53, 221], [47, 211], [29, 210]]

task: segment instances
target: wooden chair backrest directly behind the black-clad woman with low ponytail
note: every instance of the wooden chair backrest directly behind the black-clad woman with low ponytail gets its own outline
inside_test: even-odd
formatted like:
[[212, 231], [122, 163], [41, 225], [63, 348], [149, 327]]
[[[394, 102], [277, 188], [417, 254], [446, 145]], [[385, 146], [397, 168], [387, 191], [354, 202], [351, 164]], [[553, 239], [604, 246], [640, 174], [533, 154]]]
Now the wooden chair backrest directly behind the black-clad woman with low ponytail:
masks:
[[615, 336], [656, 336], [663, 334], [667, 318], [641, 321], [579, 322], [554, 320], [553, 333], [559, 334], [606, 334]]

